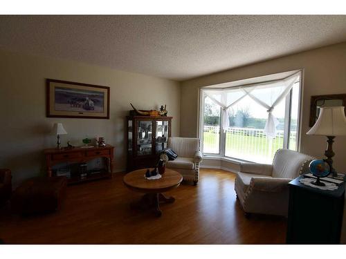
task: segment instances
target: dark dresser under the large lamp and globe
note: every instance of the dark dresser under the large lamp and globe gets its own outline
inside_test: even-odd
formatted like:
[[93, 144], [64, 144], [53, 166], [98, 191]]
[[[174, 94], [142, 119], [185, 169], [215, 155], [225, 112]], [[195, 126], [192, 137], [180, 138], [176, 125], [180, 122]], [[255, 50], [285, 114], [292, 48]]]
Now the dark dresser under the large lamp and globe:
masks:
[[338, 244], [343, 222], [345, 182], [335, 191], [289, 182], [288, 244]]

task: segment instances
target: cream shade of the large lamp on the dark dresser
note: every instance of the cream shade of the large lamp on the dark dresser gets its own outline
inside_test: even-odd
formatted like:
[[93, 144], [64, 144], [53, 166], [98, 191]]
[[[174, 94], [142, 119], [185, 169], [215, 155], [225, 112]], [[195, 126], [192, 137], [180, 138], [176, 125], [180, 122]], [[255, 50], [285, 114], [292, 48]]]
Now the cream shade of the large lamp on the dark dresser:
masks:
[[310, 128], [307, 135], [346, 135], [345, 107], [322, 107], [315, 125]]

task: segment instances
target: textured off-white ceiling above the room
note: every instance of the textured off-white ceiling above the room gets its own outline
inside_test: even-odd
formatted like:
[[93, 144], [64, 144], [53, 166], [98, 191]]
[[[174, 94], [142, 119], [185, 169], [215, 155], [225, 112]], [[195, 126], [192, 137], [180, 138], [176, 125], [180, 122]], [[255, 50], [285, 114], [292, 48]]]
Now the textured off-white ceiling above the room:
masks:
[[183, 80], [346, 41], [343, 16], [0, 16], [0, 46]]

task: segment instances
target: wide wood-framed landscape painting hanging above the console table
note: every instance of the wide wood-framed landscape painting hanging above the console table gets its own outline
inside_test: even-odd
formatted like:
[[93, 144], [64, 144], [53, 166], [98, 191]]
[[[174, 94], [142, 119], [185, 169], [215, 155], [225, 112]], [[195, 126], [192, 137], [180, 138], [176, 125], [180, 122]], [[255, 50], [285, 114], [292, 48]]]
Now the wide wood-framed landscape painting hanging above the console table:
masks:
[[109, 87], [46, 79], [47, 117], [109, 119]]

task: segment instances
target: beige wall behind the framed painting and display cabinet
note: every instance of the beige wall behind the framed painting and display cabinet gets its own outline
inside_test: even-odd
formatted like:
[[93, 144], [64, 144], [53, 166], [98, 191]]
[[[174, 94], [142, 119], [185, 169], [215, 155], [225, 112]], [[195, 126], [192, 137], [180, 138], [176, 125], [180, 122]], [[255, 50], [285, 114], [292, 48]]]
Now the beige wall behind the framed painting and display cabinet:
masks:
[[[158, 108], [167, 104], [173, 117], [172, 135], [179, 136], [180, 86], [176, 81], [127, 73], [62, 59], [50, 59], [0, 50], [0, 168], [9, 168], [17, 185], [24, 178], [44, 172], [43, 149], [55, 147], [49, 135], [55, 122], [62, 122], [71, 140], [103, 136], [116, 147], [115, 169], [126, 164], [125, 116], [131, 109]], [[63, 119], [46, 117], [45, 79], [61, 79], [110, 86], [110, 119]]]

